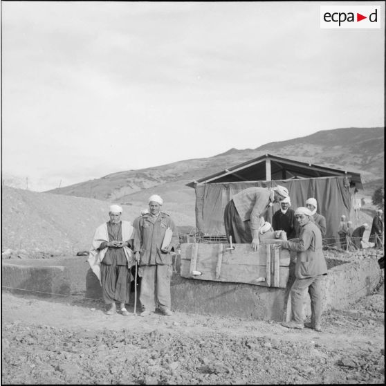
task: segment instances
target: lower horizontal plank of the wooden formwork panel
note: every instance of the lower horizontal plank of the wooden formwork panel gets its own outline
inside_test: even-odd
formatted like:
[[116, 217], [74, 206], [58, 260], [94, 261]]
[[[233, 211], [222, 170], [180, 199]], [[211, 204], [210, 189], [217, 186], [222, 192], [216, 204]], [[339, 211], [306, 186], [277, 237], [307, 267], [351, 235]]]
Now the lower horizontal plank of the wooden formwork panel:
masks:
[[[235, 272], [235, 266], [223, 264], [221, 266], [221, 275], [217, 278], [216, 275], [217, 263], [213, 264], [201, 264], [197, 261], [196, 270], [199, 270], [202, 275], [192, 277], [190, 275], [190, 261], [181, 260], [181, 277], [187, 279], [203, 280], [203, 281], [214, 281], [214, 282], [232, 282], [232, 283], [245, 283], [253, 284], [257, 286], [268, 286], [266, 281], [257, 282], [259, 277], [266, 279], [266, 266], [250, 266], [241, 264], [237, 267]], [[289, 277], [288, 267], [279, 267], [279, 283], [278, 288], [286, 288]]]

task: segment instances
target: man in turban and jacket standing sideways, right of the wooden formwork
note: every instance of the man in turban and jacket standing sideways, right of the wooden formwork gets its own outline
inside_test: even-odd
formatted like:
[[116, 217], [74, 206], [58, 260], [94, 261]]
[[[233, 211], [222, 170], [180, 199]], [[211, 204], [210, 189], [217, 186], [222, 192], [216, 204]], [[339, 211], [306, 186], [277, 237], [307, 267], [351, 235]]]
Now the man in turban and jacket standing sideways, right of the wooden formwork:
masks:
[[[296, 251], [295, 282], [291, 286], [291, 321], [283, 322], [288, 329], [304, 326], [322, 331], [322, 279], [327, 275], [327, 264], [322, 251], [322, 234], [311, 221], [311, 211], [300, 207], [295, 218], [300, 225], [299, 239], [281, 241], [282, 248]], [[308, 289], [311, 298], [311, 323], [304, 323], [303, 296]]]

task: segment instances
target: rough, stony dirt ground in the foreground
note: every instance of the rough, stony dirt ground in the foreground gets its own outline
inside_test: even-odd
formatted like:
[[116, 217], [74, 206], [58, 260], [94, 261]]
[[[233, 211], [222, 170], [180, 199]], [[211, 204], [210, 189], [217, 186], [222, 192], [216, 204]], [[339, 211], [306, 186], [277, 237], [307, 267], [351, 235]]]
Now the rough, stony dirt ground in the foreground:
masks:
[[383, 384], [383, 279], [322, 319], [318, 333], [178, 312], [109, 316], [80, 295], [3, 292], [2, 384]]

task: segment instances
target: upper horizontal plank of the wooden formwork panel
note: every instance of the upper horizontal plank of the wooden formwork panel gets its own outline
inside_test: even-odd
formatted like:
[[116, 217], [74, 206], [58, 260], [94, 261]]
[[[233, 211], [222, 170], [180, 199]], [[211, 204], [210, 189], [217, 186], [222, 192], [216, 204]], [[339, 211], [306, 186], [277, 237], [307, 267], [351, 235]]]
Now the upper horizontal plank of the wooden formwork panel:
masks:
[[[235, 249], [231, 253], [230, 250], [226, 250], [226, 248], [228, 248], [230, 245], [228, 243], [223, 243], [222, 265], [231, 264], [238, 266], [239, 264], [247, 264], [252, 266], [266, 266], [266, 241], [264, 243], [260, 243], [257, 252], [252, 250], [250, 244], [233, 244]], [[277, 243], [277, 240], [272, 243]], [[190, 260], [192, 258], [192, 245], [194, 245], [194, 243], [181, 244], [181, 260]], [[218, 248], [219, 247], [217, 246], [217, 244], [199, 243], [198, 259], [208, 261], [208, 263], [216, 262], [218, 259]], [[280, 266], [289, 266], [289, 263], [290, 252], [286, 249], [280, 249]]]

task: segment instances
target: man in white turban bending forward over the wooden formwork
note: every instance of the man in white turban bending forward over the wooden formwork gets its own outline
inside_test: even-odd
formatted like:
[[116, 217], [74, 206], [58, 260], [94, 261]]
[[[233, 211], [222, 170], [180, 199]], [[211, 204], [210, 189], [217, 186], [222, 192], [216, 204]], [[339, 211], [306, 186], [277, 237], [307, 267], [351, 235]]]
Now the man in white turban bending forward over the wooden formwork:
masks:
[[288, 197], [286, 187], [248, 187], [235, 194], [224, 210], [226, 237], [234, 243], [251, 243], [253, 250], [259, 247], [260, 217], [274, 202]]

